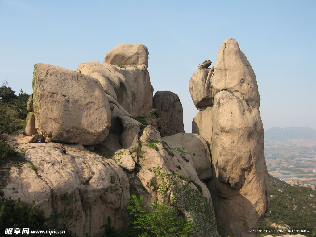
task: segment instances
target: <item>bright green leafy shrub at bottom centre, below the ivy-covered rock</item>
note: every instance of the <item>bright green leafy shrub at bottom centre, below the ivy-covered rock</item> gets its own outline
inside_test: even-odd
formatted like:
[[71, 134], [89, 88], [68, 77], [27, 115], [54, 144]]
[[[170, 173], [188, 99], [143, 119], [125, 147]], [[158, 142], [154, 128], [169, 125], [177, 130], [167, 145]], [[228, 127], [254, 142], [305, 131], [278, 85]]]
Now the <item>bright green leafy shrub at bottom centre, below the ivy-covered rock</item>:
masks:
[[174, 207], [168, 207], [166, 203], [159, 205], [153, 201], [153, 210], [147, 211], [147, 206], [143, 206], [144, 196], [138, 198], [131, 194], [130, 199], [132, 205], [127, 209], [134, 217], [132, 224], [143, 231], [138, 237], [187, 237], [193, 231], [193, 221], [187, 222], [177, 216]]

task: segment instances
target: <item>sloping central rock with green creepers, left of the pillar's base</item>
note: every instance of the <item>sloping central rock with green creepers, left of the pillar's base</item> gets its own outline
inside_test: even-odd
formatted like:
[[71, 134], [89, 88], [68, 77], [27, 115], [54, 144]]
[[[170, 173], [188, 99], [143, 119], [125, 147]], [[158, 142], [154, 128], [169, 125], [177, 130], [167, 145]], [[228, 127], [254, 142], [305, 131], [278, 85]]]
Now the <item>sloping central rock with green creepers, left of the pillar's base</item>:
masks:
[[[173, 206], [177, 206], [188, 217], [188, 220], [194, 218], [196, 223], [200, 224], [199, 227], [195, 228], [192, 236], [219, 236], [216, 230], [216, 219], [210, 192], [198, 178], [191, 156], [183, 154], [186, 152], [185, 150], [179, 150], [181, 145], [178, 143], [171, 142], [171, 140], [162, 143], [160, 133], [150, 125], [144, 129], [140, 140], [143, 142], [141, 143], [142, 156], [139, 156], [139, 164], [142, 169], [137, 173], [137, 177], [145, 191], [139, 191], [138, 193], [144, 195], [145, 204], [150, 205], [151, 200], [157, 200], [160, 204], [163, 201], [168, 203], [170, 198], [174, 198], [171, 201]], [[149, 147], [149, 143], [155, 143], [157, 149]], [[173, 153], [173, 155], [170, 155], [170, 153]], [[159, 172], [157, 172], [157, 168]], [[170, 177], [170, 179], [161, 178], [162, 176], [159, 173], [169, 175], [167, 177]], [[173, 173], [186, 178], [171, 177], [170, 175]], [[159, 191], [155, 188], [155, 182], [157, 185], [159, 184]], [[201, 192], [198, 191], [193, 182], [201, 187]], [[198, 211], [195, 212], [195, 210]]]

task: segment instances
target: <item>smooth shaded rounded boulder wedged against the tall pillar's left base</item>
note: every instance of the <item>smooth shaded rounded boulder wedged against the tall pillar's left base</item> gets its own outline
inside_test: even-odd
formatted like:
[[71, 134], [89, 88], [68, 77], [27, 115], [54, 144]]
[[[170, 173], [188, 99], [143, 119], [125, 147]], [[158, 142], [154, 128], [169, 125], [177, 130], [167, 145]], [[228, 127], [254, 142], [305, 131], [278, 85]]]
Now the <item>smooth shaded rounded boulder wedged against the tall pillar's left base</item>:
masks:
[[178, 143], [191, 156], [197, 176], [201, 180], [213, 178], [212, 161], [209, 147], [204, 138], [193, 133], [177, 133], [163, 137], [164, 142]]

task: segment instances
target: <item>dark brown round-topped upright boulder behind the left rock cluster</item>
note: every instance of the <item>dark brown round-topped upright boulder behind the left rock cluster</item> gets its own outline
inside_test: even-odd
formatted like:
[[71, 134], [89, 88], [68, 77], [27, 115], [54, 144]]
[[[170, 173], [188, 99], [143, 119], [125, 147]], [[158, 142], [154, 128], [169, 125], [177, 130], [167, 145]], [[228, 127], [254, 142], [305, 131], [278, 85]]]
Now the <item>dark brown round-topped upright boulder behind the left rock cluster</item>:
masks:
[[183, 109], [178, 95], [171, 91], [157, 91], [153, 106], [157, 109], [158, 117], [164, 119], [158, 124], [161, 136], [184, 132]]

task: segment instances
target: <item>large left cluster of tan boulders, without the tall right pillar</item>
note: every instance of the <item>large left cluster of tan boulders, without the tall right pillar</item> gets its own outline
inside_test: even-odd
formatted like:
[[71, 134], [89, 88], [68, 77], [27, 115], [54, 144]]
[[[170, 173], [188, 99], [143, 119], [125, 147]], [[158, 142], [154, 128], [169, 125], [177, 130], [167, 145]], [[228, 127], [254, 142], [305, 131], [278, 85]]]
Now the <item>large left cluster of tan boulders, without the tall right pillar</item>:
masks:
[[[176, 94], [157, 92], [153, 103], [147, 64], [147, 48], [130, 44], [76, 72], [35, 64], [26, 133], [40, 134], [9, 142], [30, 163], [12, 167], [4, 197], [34, 200], [78, 236], [98, 237], [108, 217], [113, 228], [128, 227], [129, 195], [143, 195], [145, 205], [157, 200], [194, 219], [194, 236], [219, 237], [210, 191], [199, 179], [212, 175], [207, 143], [197, 134], [162, 139], [166, 134], [131, 118], [154, 104], [170, 135], [184, 132]], [[44, 137], [47, 143], [36, 143]]]

